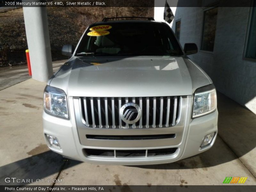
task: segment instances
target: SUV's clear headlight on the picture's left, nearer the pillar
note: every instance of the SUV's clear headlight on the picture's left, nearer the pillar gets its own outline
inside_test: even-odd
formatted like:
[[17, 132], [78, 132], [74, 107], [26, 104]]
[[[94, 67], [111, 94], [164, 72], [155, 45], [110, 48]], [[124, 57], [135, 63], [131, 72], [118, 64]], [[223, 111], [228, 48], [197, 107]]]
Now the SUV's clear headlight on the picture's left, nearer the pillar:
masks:
[[47, 85], [44, 89], [44, 111], [50, 115], [68, 119], [66, 93], [59, 88]]

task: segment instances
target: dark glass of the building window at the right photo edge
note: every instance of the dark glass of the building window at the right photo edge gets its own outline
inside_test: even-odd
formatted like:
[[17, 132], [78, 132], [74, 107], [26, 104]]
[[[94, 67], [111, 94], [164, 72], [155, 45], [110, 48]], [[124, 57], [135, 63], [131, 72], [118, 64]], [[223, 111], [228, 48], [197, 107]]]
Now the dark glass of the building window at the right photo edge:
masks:
[[252, 10], [252, 20], [249, 30], [248, 43], [245, 57], [256, 59], [256, 1], [254, 1]]

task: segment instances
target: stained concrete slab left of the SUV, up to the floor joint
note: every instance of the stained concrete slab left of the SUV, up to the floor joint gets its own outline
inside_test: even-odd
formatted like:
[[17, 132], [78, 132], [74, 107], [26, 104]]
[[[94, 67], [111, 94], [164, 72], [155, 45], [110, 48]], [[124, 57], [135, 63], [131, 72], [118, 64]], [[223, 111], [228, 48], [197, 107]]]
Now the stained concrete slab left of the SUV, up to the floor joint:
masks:
[[43, 137], [44, 87], [28, 79], [0, 93], [0, 185], [6, 177], [55, 179], [63, 164], [61, 156], [48, 151]]

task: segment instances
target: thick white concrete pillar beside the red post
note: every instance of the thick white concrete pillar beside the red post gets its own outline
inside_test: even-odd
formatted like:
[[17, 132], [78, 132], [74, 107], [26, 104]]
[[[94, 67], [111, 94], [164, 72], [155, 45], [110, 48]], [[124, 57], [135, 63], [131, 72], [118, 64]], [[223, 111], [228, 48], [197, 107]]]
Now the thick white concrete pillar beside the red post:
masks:
[[46, 7], [23, 7], [32, 78], [47, 82], [52, 76], [52, 55]]

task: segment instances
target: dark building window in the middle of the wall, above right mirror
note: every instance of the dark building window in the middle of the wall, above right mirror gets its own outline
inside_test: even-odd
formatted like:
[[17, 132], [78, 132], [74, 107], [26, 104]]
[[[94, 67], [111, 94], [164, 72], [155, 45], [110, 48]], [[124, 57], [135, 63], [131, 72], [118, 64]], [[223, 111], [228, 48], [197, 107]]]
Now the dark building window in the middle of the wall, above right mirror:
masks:
[[213, 8], [204, 12], [204, 26], [201, 50], [213, 51], [218, 8]]

